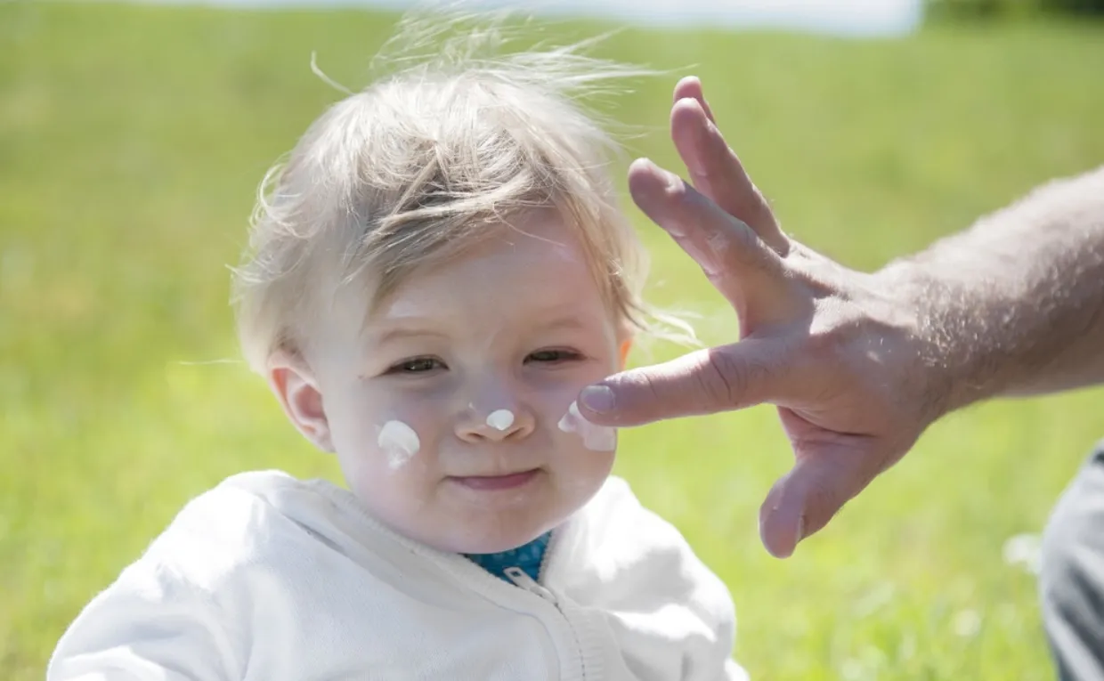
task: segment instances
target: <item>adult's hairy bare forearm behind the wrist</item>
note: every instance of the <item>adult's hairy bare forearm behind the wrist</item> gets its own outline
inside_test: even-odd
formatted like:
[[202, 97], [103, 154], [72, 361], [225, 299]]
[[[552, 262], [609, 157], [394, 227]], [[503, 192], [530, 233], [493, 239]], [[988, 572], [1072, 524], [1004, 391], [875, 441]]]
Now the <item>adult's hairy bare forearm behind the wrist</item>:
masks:
[[879, 275], [919, 312], [943, 411], [1104, 382], [1104, 168]]

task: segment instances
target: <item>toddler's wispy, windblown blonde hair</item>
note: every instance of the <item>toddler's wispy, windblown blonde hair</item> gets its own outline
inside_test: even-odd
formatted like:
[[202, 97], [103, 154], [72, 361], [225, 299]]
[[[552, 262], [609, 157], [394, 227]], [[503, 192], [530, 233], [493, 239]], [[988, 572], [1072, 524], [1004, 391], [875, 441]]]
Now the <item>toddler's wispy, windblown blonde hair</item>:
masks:
[[644, 72], [585, 56], [594, 41], [493, 54], [505, 36], [501, 15], [405, 20], [384, 50], [405, 50], [389, 58], [397, 67], [326, 110], [269, 170], [233, 278], [254, 371], [274, 352], [302, 350], [325, 283], [360, 281], [378, 302], [415, 268], [476, 243], [488, 224], [541, 209], [577, 230], [625, 333], [662, 320], [692, 336], [643, 300], [647, 254], [607, 171], [618, 148], [580, 104]]

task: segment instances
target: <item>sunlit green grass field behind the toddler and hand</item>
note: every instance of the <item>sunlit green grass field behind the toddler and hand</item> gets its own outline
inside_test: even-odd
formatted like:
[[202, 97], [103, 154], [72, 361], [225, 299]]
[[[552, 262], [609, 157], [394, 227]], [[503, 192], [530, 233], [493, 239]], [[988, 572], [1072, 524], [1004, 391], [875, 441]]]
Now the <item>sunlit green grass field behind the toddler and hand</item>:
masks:
[[[311, 51], [360, 85], [392, 22], [0, 3], [0, 678], [42, 678], [83, 604], [224, 476], [337, 475], [236, 362], [224, 265], [263, 171], [338, 96]], [[787, 231], [856, 267], [1104, 161], [1100, 25], [631, 30], [602, 53], [701, 75]], [[643, 126], [631, 155], [672, 167], [676, 75], [609, 105]], [[728, 338], [720, 297], [634, 215], [654, 299]], [[625, 433], [617, 468], [731, 586], [755, 678], [1047, 679], [1033, 576], [1001, 547], [1042, 528], [1102, 414], [1084, 391], [954, 415], [785, 562], [756, 530], [790, 458], [769, 408]]]

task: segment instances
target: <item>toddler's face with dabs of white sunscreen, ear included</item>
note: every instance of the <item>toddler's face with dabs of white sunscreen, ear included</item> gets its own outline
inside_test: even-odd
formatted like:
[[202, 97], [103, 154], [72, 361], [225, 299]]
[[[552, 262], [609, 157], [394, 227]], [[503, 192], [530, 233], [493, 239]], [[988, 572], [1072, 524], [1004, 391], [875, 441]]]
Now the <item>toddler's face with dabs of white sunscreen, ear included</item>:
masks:
[[274, 371], [293, 421], [337, 453], [361, 503], [444, 551], [534, 539], [614, 461], [612, 434], [584, 441], [560, 422], [583, 386], [620, 369], [615, 320], [562, 219], [516, 226], [528, 234], [496, 227], [415, 273], [367, 324], [364, 299], [339, 299], [312, 333], [310, 375]]

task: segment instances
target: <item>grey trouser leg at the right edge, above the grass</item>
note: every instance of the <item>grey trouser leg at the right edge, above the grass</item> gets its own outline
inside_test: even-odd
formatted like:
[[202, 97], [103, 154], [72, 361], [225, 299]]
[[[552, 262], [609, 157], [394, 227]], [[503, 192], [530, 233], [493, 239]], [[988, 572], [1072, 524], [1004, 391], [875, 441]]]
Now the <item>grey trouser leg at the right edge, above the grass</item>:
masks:
[[1043, 625], [1062, 681], [1104, 681], [1104, 441], [1043, 533]]

